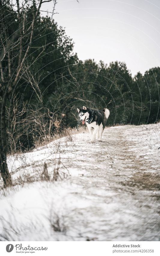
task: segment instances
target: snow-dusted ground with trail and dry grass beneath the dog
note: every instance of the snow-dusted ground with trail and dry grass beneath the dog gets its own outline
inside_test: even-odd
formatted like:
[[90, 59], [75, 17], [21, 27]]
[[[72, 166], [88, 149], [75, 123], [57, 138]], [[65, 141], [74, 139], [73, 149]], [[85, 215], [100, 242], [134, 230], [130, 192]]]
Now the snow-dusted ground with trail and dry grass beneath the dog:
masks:
[[160, 124], [116, 126], [102, 142], [80, 133], [10, 156], [0, 240], [158, 241], [159, 137]]

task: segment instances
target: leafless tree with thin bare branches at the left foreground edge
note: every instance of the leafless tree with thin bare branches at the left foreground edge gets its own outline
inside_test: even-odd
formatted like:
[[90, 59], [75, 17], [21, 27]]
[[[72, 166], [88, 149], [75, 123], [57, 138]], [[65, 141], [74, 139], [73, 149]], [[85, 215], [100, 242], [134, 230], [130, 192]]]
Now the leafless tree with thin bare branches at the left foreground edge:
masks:
[[[0, 0], [0, 24], [3, 29], [3, 33], [0, 35], [0, 172], [5, 186], [12, 184], [11, 176], [7, 166], [7, 124], [6, 124], [6, 102], [14, 93], [15, 87], [19, 86], [18, 81], [20, 79], [21, 71], [24, 62], [29, 55], [31, 49], [32, 40], [34, 36], [35, 22], [40, 15], [40, 10], [43, 3], [53, 2], [53, 12], [55, 13], [56, 0], [16, 0], [14, 5], [12, 1]], [[29, 12], [31, 17], [30, 22], [26, 18], [26, 11]], [[14, 33], [10, 34], [8, 23], [8, 17], [13, 16], [18, 19], [19, 27], [15, 27]], [[13, 21], [13, 22], [14, 22]], [[14, 58], [18, 55], [18, 66], [14, 68]], [[43, 50], [42, 50], [43, 51]], [[5, 67], [5, 68], [4, 68]], [[37, 89], [35, 89], [37, 90]]]

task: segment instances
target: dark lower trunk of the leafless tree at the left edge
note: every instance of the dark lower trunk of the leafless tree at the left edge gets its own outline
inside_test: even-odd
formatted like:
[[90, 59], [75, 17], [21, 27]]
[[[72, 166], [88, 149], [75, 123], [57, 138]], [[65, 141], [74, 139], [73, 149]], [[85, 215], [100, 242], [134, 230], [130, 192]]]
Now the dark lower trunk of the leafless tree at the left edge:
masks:
[[6, 110], [6, 93], [2, 96], [2, 103], [0, 106], [0, 121], [1, 121], [1, 134], [0, 134], [0, 172], [5, 187], [12, 185], [11, 175], [7, 166], [7, 127], [5, 122]]

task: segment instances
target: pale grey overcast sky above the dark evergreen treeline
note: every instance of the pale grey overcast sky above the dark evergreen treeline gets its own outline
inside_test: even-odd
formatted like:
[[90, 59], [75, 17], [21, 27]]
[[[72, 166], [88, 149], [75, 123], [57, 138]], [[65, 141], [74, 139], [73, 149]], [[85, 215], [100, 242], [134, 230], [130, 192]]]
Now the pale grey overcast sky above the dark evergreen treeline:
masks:
[[58, 0], [56, 11], [81, 60], [124, 61], [132, 75], [160, 66], [160, 0]]

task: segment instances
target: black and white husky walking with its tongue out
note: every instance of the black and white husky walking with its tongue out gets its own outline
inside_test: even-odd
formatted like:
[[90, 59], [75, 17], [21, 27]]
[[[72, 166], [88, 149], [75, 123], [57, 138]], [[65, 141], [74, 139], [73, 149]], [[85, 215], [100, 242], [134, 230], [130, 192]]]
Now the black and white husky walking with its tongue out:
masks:
[[95, 137], [97, 137], [98, 141], [101, 141], [106, 120], [110, 115], [109, 109], [95, 110], [83, 106], [83, 109], [77, 108], [77, 110], [80, 121], [82, 121], [83, 125], [86, 123], [89, 129], [91, 141], [94, 141]]

